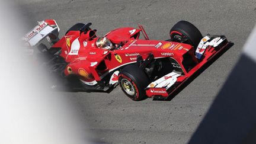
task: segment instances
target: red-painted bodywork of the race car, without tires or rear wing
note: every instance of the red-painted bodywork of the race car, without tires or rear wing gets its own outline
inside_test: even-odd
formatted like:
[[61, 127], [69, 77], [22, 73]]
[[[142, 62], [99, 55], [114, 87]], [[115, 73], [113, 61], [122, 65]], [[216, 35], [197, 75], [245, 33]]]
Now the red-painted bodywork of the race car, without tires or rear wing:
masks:
[[[190, 44], [163, 40], [142, 40], [139, 39], [140, 31], [143, 32], [141, 25], [140, 29], [124, 27], [107, 33], [105, 37], [110, 39], [112, 43], [119, 44], [123, 42], [123, 46], [116, 50], [98, 48], [95, 44], [97, 37], [90, 38], [88, 34], [81, 34], [80, 31], [69, 31], [65, 37], [57, 41], [52, 47], [62, 48], [60, 56], [68, 62], [65, 69], [66, 76], [71, 74], [78, 75], [82, 81], [87, 82], [87, 84], [91, 82], [92, 85], [95, 81], [101, 81], [107, 73], [114, 72], [130, 63], [135, 63], [137, 55], [142, 56], [143, 59], [146, 59], [149, 53], [152, 53], [155, 59], [172, 57], [183, 70], [183, 75], [177, 78], [174, 87], [168, 89], [168, 91], [165, 88], [146, 89], [148, 97], [154, 95], [168, 97], [228, 44], [227, 42], [219, 49], [215, 49], [212, 46], [207, 47], [203, 59], [198, 60], [194, 56], [194, 47]], [[146, 37], [148, 36], [146, 35]], [[79, 46], [77, 55], [72, 55], [72, 44], [76, 49]], [[76, 51], [74, 52], [76, 53]], [[196, 63], [189, 71], [183, 65], [185, 54], [189, 54], [193, 62]], [[117, 76], [114, 76], [114, 78], [116, 79]], [[151, 90], [158, 90], [158, 93], [152, 93]]]

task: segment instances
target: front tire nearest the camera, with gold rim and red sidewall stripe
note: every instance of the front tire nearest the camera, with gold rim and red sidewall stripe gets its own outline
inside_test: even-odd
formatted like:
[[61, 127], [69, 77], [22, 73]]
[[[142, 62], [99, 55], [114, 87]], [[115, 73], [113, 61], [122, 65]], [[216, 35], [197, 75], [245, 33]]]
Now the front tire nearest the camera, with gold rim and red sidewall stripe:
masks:
[[137, 65], [126, 66], [119, 73], [119, 84], [124, 92], [133, 101], [141, 101], [147, 98], [144, 90], [150, 81], [145, 72]]

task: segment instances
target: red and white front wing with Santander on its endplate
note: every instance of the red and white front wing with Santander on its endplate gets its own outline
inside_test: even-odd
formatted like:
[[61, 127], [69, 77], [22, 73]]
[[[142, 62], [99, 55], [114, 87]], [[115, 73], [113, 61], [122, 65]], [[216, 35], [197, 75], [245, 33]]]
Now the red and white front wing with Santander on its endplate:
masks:
[[[201, 41], [203, 41], [204, 44], [207, 45], [204, 48], [205, 52], [200, 53], [200, 57], [197, 57], [197, 59], [201, 59], [201, 55], [204, 55], [204, 59], [202, 59], [197, 64], [197, 66], [195, 66], [193, 69], [190, 70], [190, 72], [186, 73], [185, 75], [181, 75], [180, 73], [177, 73], [177, 72], [171, 72], [165, 76], [162, 76], [156, 81], [151, 82], [151, 84], [149, 84], [148, 87], [145, 88], [146, 95], [148, 97], [167, 98], [171, 94], [173, 94], [175, 91], [177, 91], [177, 89], [181, 87], [181, 85], [183, 85], [189, 78], [191, 78], [196, 72], [200, 71], [200, 69], [202, 69], [207, 62], [209, 62], [214, 57], [216, 57], [217, 54], [223, 52], [225, 48], [226, 49], [229, 48], [229, 44], [232, 44], [232, 43], [226, 40], [225, 36], [220, 36], [220, 37], [221, 39], [218, 39], [218, 38], [213, 39], [213, 40], [216, 40], [216, 39], [221, 40], [217, 44], [206, 43], [207, 40], [209, 41], [213, 41], [213, 40], [207, 39], [205, 41], [206, 37], [204, 37], [204, 39], [202, 39]], [[201, 45], [203, 46], [204, 44], [201, 44]], [[198, 54], [199, 53], [196, 52], [196, 56]], [[179, 80], [177, 81], [177, 79]]]

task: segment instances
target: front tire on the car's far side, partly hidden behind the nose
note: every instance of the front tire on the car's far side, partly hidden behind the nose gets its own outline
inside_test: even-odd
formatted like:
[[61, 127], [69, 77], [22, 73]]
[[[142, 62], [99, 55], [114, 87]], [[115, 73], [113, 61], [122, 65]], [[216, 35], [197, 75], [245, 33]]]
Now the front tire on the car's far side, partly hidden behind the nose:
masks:
[[201, 39], [203, 39], [199, 29], [188, 21], [179, 21], [175, 24], [170, 30], [170, 36], [171, 39], [187, 38], [188, 40], [185, 43], [190, 44], [194, 49], [197, 48]]

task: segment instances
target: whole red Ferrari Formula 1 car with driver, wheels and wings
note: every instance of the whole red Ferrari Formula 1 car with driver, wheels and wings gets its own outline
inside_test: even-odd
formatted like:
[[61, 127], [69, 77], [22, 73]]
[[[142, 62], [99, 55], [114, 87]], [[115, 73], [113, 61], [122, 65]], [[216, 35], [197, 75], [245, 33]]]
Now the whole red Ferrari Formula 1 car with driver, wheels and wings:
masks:
[[[169, 40], [149, 40], [142, 25], [117, 28], [104, 37], [97, 37], [90, 26], [75, 24], [59, 39], [56, 21], [44, 20], [23, 39], [47, 55], [46, 65], [73, 88], [109, 91], [119, 84], [135, 101], [169, 97], [230, 44], [225, 36], [203, 37], [187, 21], [171, 28]], [[50, 49], [40, 44], [45, 37]]]

